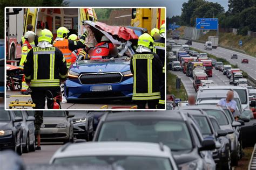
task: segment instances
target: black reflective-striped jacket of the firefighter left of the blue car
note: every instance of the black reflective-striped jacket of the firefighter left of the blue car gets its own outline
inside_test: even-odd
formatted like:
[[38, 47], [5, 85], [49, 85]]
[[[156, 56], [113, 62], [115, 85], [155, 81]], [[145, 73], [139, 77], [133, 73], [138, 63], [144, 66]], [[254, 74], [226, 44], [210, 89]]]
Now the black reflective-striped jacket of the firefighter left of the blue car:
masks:
[[56, 47], [32, 48], [24, 63], [25, 80], [31, 82], [33, 89], [59, 88], [60, 80], [66, 80], [67, 72], [65, 58]]

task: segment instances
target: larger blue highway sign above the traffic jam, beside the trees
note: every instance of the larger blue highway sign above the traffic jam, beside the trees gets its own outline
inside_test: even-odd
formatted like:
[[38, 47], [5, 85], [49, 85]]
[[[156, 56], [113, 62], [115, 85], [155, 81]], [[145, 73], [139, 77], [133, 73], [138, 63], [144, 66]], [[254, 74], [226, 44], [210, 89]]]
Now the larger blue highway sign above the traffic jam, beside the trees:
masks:
[[197, 18], [196, 29], [198, 30], [218, 30], [218, 18]]

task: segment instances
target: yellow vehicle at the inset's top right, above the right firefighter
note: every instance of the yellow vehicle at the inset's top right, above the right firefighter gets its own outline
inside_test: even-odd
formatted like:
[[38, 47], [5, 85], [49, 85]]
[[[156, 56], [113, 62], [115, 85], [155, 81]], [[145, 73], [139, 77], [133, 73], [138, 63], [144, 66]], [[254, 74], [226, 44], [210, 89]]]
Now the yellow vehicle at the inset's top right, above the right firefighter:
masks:
[[150, 32], [153, 28], [160, 29], [165, 18], [165, 8], [133, 8], [131, 26], [143, 27]]

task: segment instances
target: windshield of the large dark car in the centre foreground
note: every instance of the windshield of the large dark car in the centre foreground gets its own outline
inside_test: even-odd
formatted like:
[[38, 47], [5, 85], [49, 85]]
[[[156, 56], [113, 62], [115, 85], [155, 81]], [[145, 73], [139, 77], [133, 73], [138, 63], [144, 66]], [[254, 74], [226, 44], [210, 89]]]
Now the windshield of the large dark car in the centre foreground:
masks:
[[161, 142], [172, 151], [192, 149], [190, 133], [186, 124], [180, 121], [129, 120], [104, 123], [98, 141], [115, 140]]

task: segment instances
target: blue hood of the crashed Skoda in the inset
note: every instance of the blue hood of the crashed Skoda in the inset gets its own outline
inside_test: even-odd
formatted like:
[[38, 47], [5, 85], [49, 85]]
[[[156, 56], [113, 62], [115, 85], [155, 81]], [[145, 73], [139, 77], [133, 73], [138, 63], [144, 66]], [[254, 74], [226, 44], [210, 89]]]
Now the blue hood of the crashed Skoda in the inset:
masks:
[[76, 73], [126, 72], [130, 70], [130, 61], [114, 60], [83, 60], [74, 63], [70, 70]]

